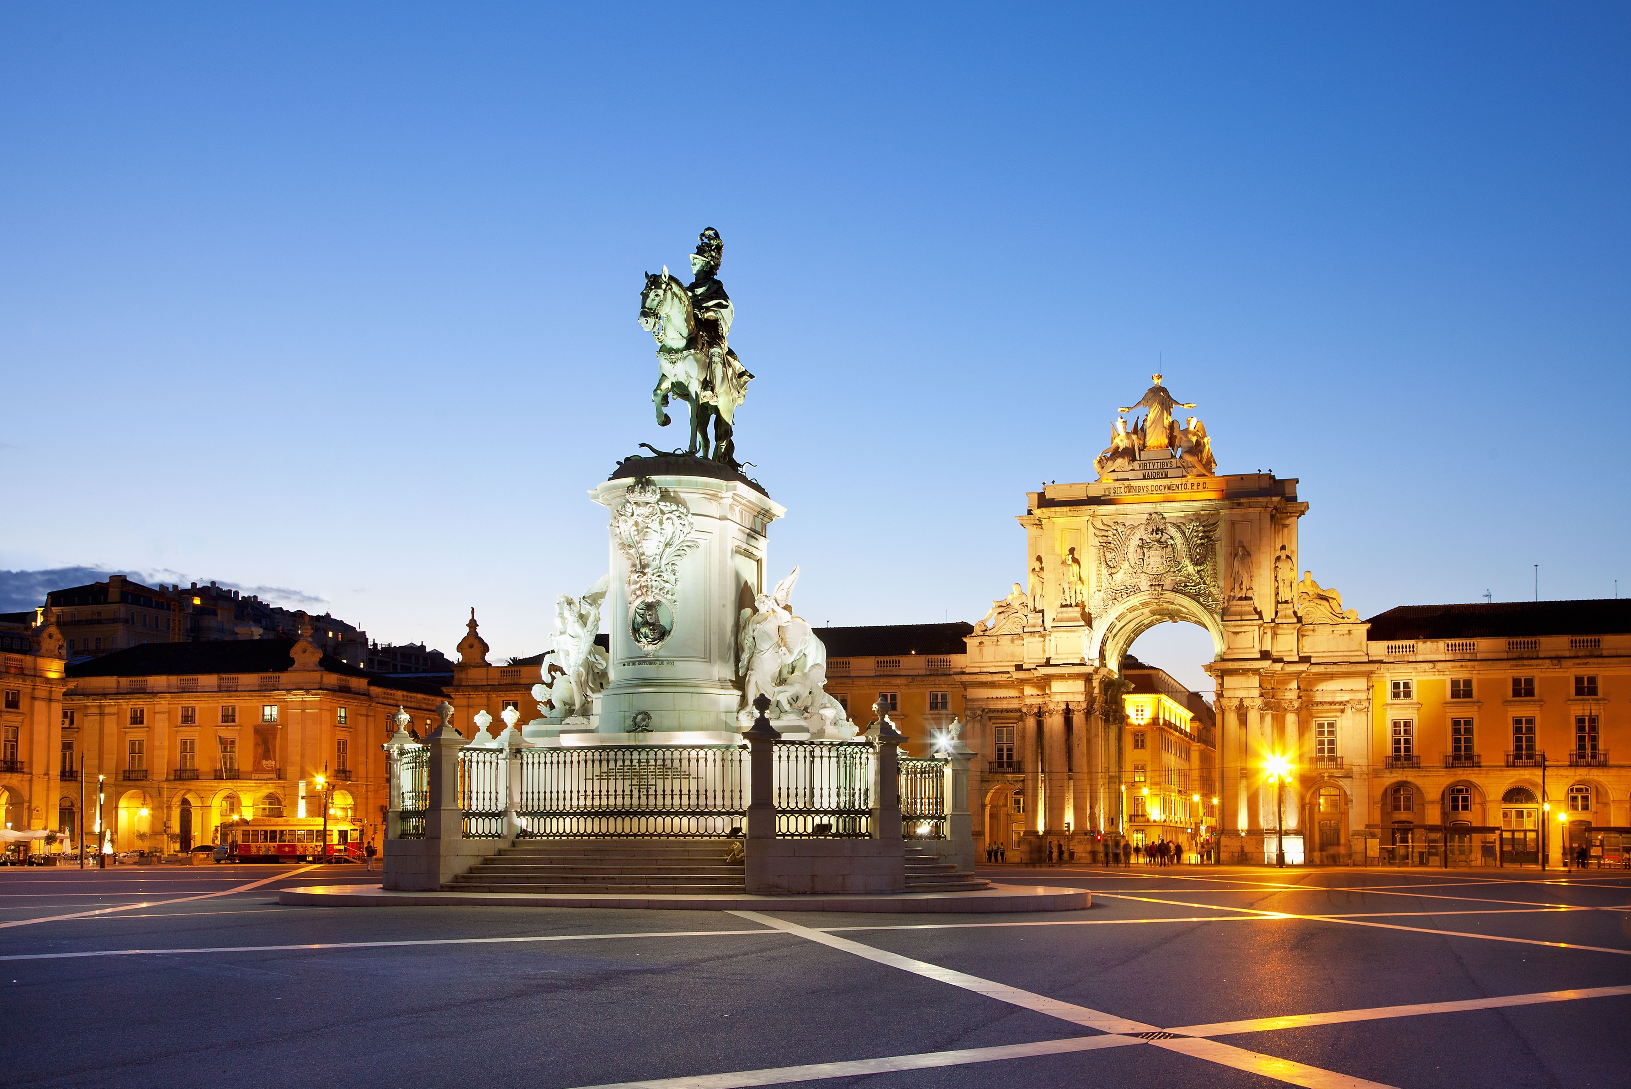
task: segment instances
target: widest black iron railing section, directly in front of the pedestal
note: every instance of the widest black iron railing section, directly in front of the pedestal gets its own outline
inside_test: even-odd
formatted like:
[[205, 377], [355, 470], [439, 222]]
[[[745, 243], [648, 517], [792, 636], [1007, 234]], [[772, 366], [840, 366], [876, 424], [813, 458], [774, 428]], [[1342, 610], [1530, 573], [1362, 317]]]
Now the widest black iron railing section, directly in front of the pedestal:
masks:
[[737, 745], [594, 745], [520, 752], [520, 836], [742, 835], [747, 750]]

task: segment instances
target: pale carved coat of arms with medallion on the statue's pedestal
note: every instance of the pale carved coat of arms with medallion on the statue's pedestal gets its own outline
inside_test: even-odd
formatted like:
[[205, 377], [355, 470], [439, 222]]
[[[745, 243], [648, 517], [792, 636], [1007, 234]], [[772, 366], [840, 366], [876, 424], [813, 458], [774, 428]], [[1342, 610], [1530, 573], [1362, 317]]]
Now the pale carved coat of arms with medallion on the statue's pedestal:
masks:
[[634, 481], [612, 515], [612, 538], [628, 561], [630, 636], [646, 654], [674, 634], [680, 561], [696, 548], [692, 528], [692, 512], [649, 479]]

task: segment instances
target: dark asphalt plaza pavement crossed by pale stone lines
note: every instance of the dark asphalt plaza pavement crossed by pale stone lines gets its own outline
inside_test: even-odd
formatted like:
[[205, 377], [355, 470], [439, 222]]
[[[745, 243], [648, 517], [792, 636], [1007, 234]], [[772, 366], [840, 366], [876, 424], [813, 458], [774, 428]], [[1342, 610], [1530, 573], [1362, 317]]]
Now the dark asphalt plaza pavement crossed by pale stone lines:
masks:
[[0, 872], [0, 1082], [1623, 1086], [1631, 874], [982, 867], [1044, 915], [282, 906]]

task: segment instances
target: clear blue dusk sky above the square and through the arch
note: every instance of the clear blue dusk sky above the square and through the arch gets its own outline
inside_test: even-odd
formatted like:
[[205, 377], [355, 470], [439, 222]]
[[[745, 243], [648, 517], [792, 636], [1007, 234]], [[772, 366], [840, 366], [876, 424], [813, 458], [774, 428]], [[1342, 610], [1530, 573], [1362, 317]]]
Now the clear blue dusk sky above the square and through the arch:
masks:
[[1628, 112], [1624, 5], [7, 5], [0, 567], [541, 650], [711, 225], [817, 624], [979, 619], [1158, 359], [1364, 616], [1631, 593]]

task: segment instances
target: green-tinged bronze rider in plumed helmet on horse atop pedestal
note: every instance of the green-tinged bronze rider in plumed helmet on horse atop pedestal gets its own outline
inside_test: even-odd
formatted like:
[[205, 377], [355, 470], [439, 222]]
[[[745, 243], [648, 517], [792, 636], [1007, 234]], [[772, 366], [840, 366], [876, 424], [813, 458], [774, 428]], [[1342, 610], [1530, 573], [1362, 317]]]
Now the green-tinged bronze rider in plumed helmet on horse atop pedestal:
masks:
[[[731, 297], [719, 282], [724, 241], [708, 227], [692, 254], [695, 279], [688, 285], [669, 274], [646, 274], [639, 295], [639, 328], [657, 341], [657, 386], [651, 399], [657, 424], [669, 425], [664, 411], [669, 398], [683, 399], [692, 408], [688, 453], [739, 468], [736, 461], [736, 409], [747, 396], [752, 373], [731, 351], [731, 321], [736, 316]], [[713, 448], [708, 429], [713, 425]]]

